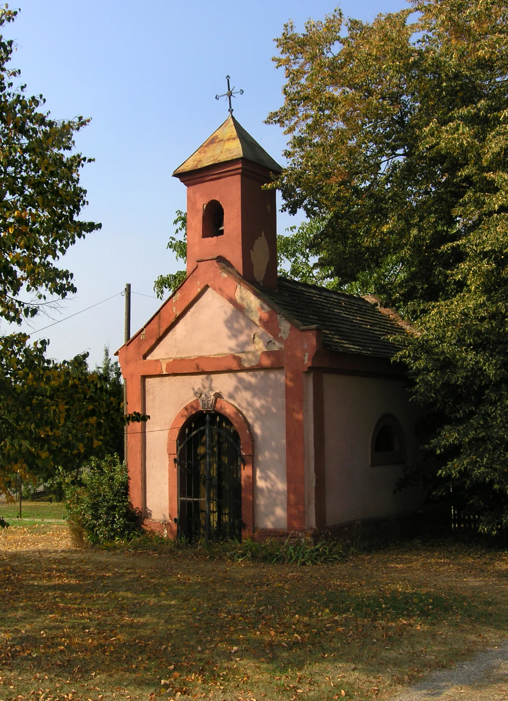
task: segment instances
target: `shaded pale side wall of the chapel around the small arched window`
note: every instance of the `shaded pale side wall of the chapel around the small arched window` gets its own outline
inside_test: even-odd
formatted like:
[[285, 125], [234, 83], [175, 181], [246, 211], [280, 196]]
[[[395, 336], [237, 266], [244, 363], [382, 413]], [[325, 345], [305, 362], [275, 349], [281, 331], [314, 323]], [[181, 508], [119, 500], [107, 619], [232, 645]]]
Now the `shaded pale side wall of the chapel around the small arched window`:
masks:
[[370, 465], [371, 436], [387, 413], [404, 430], [407, 461], [416, 458], [416, 409], [403, 383], [339, 374], [324, 374], [323, 379], [327, 524], [418, 508], [417, 491], [393, 494], [400, 465]]

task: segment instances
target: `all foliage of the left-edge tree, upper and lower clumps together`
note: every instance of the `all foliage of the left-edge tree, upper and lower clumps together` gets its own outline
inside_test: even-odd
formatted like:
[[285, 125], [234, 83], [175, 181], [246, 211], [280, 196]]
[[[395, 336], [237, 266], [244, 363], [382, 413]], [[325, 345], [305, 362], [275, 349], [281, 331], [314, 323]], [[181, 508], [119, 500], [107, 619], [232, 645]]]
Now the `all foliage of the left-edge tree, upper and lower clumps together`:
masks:
[[[0, 8], [0, 27], [16, 15]], [[101, 225], [78, 219], [87, 204], [79, 172], [92, 159], [75, 151], [74, 134], [89, 120], [56, 121], [41, 111], [41, 95], [14, 87], [12, 52], [13, 41], [0, 36], [0, 317], [20, 324], [76, 292], [57, 261]], [[76, 469], [111, 442], [121, 413], [111, 378], [90, 373], [86, 354], [55, 362], [47, 346], [27, 334], [0, 336], [0, 494], [17, 475]]]

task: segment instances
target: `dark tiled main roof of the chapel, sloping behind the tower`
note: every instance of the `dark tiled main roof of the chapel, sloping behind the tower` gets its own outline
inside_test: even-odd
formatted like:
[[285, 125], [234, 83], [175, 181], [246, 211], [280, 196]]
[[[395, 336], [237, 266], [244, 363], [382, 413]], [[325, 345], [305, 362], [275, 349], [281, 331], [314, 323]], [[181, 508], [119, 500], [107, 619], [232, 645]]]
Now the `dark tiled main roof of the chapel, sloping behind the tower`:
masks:
[[300, 325], [318, 325], [324, 348], [338, 353], [360, 353], [391, 358], [397, 351], [386, 336], [406, 334], [401, 325], [355, 294], [279, 278], [277, 290], [263, 288], [263, 297]]

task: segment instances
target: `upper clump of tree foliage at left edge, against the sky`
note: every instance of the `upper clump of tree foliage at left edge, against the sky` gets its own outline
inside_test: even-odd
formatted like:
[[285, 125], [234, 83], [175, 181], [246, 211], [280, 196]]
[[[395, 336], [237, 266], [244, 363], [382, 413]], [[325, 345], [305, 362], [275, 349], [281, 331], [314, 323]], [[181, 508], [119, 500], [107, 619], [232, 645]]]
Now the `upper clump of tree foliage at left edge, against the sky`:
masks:
[[[17, 14], [0, 8], [0, 27]], [[14, 87], [20, 71], [8, 67], [12, 53], [13, 41], [0, 36], [0, 315], [20, 322], [48, 297], [76, 292], [72, 273], [57, 260], [101, 225], [77, 219], [88, 204], [79, 172], [93, 159], [74, 150], [74, 134], [90, 120], [55, 120], [41, 111], [42, 95]]]

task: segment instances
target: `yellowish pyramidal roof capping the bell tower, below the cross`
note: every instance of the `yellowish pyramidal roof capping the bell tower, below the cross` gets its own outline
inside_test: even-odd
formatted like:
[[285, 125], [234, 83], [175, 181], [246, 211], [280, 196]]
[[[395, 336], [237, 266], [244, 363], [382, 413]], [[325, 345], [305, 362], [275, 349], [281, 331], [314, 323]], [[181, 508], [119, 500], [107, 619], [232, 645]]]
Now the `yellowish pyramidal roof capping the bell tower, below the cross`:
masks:
[[207, 165], [235, 161], [236, 158], [246, 158], [247, 161], [264, 165], [274, 172], [282, 172], [280, 165], [266, 153], [252, 136], [245, 131], [232, 114], [224, 124], [221, 124], [212, 136], [208, 137], [197, 151], [194, 151], [185, 163], [182, 163], [173, 175], [205, 168]]

